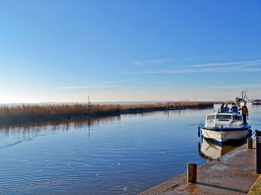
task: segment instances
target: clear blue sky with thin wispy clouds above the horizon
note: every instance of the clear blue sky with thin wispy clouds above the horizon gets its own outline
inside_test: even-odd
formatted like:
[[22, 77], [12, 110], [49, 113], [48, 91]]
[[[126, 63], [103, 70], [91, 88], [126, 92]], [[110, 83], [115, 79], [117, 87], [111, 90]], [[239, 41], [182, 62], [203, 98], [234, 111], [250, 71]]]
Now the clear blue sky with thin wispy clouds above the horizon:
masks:
[[0, 1], [0, 103], [261, 98], [261, 1]]

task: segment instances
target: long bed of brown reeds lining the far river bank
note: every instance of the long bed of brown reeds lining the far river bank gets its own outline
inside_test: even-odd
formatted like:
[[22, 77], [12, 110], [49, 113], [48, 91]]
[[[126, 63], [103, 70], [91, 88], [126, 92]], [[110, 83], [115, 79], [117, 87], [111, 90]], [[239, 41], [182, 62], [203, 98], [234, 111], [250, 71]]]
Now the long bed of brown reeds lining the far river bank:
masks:
[[[189, 108], [213, 107], [214, 102], [181, 102], [181, 106]], [[141, 112], [145, 110], [163, 110], [166, 103], [140, 105], [22, 105], [0, 106], [0, 124], [24, 122], [57, 121], [75, 117], [98, 117], [116, 115], [121, 112]], [[178, 107], [179, 102], [170, 102], [169, 106]]]

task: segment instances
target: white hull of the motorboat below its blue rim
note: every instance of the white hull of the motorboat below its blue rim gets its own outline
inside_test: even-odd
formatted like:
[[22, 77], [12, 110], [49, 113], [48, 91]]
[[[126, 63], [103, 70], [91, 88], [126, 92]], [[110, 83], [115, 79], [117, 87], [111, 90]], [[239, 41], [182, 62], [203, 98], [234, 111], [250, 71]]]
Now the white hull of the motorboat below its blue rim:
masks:
[[224, 135], [224, 139], [220, 139], [221, 131], [211, 131], [202, 128], [200, 129], [202, 131], [202, 135], [205, 138], [214, 139], [217, 140], [218, 142], [225, 142], [233, 139], [238, 139], [238, 140], [245, 139], [248, 133], [248, 129], [241, 130], [241, 131], [223, 131], [222, 134]]

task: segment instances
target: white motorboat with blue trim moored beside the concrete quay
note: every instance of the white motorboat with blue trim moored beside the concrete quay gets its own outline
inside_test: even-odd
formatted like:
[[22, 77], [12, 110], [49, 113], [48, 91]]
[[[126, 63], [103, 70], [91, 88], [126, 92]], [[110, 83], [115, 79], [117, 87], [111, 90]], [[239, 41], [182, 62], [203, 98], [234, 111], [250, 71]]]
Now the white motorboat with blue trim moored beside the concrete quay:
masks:
[[205, 138], [220, 143], [245, 139], [252, 135], [251, 126], [244, 124], [243, 116], [234, 109], [215, 109], [206, 116], [204, 125], [199, 124], [198, 130], [200, 129]]

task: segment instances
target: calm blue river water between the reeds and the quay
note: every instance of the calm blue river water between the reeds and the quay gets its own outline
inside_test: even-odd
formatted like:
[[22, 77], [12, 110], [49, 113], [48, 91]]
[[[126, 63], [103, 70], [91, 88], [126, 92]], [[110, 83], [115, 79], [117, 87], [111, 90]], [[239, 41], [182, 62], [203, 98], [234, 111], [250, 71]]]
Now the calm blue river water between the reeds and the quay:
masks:
[[[219, 105], [215, 105], [218, 108]], [[261, 106], [248, 106], [260, 128]], [[198, 138], [213, 108], [0, 127], [0, 194], [137, 194], [234, 146]], [[206, 149], [209, 148], [209, 149]]]

